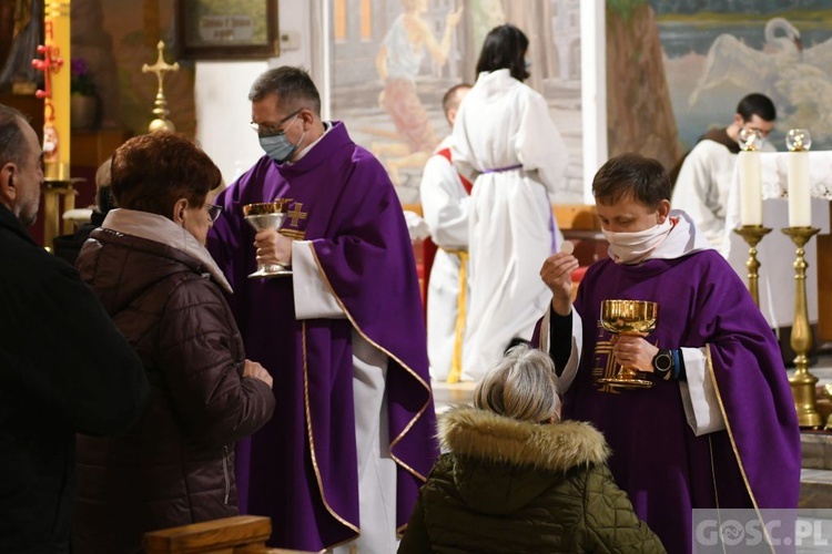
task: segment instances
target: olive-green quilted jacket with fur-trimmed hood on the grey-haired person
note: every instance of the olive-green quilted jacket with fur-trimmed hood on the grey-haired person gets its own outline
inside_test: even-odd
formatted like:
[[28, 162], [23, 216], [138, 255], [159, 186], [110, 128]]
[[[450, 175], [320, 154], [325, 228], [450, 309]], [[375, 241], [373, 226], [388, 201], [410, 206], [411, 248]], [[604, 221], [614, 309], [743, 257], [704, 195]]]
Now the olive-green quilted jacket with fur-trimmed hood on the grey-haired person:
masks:
[[458, 408], [399, 553], [662, 553], [588, 423], [534, 424]]

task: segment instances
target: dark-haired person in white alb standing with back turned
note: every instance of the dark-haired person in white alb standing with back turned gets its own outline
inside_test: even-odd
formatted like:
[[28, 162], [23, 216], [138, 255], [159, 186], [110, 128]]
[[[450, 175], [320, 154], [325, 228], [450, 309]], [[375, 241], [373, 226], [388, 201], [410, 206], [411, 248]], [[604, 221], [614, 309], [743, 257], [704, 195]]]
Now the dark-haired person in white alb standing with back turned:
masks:
[[454, 124], [454, 165], [474, 182], [463, 380], [479, 380], [509, 345], [528, 340], [551, 299], [536, 276], [555, 252], [549, 193], [568, 156], [546, 100], [522, 83], [528, 44], [510, 24], [488, 33]]

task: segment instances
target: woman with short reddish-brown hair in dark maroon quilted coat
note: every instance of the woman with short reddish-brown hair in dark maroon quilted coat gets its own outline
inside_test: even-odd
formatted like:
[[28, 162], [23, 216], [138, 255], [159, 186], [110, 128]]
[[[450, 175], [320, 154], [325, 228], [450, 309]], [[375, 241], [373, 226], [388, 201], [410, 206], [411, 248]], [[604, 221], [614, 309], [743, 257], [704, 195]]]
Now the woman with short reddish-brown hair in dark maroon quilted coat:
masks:
[[245, 359], [204, 247], [216, 165], [184, 136], [131, 138], [112, 162], [121, 207], [91, 233], [82, 278], [144, 362], [151, 399], [118, 438], [79, 437], [74, 552], [140, 552], [143, 533], [235, 515], [234, 443], [274, 411], [272, 378]]

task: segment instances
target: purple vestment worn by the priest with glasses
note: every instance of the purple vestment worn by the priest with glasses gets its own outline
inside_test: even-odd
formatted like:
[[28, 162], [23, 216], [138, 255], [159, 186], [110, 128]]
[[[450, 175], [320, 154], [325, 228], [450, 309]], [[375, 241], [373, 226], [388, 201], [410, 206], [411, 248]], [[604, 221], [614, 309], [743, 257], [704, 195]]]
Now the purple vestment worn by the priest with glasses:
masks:
[[[248, 203], [292, 198], [282, 233], [311, 240], [345, 319], [295, 318], [291, 277], [255, 269]], [[272, 542], [319, 551], [354, 538], [358, 473], [353, 328], [388, 356], [386, 393], [400, 530], [438, 454], [418, 277], [386, 172], [343, 123], [297, 163], [263, 156], [216, 201], [209, 249], [234, 288], [246, 356], [274, 377], [274, 418], [239, 449], [241, 511], [272, 517]]]

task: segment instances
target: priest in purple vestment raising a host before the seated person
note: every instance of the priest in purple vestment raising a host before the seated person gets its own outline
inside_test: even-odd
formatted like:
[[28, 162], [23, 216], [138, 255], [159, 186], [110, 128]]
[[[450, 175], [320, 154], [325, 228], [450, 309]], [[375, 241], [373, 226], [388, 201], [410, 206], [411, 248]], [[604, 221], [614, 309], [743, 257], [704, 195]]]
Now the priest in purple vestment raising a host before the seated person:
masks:
[[[555, 254], [540, 270], [554, 296], [536, 340], [568, 387], [564, 417], [603, 432], [616, 481], [668, 552], [691, 552], [693, 509], [797, 509], [794, 403], [743, 283], [690, 217], [671, 211], [659, 162], [615, 157], [592, 191], [610, 257], [589, 267], [574, 305], [575, 257]], [[599, 322], [606, 299], [658, 302], [656, 330], [610, 335]], [[620, 365], [652, 387], [599, 382]]]

